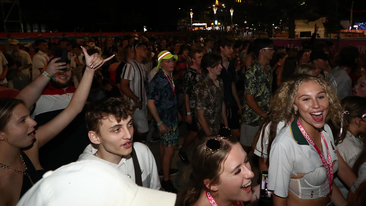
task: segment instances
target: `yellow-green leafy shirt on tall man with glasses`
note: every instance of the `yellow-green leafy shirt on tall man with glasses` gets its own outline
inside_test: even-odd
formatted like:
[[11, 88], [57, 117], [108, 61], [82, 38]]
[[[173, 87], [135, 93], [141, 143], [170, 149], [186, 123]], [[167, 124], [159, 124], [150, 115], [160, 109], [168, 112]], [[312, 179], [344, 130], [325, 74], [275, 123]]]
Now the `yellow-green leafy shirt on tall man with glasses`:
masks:
[[[272, 69], [267, 63], [268, 75], [264, 71], [263, 66], [255, 60], [253, 65], [245, 72], [244, 77], [244, 94], [254, 96], [254, 101], [262, 108], [264, 112], [269, 110], [269, 100], [272, 91]], [[246, 104], [245, 98], [243, 103], [241, 123], [250, 126], [259, 126], [263, 122], [263, 117], [255, 113]]]

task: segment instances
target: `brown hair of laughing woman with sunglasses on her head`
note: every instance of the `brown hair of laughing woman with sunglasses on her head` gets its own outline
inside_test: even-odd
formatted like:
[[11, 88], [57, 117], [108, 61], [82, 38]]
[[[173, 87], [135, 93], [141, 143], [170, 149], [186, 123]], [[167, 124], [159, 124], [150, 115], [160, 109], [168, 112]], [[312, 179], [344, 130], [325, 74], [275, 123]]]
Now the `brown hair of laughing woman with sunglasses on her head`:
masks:
[[238, 144], [238, 140], [231, 137], [219, 139], [219, 151], [211, 155], [206, 155], [206, 142], [212, 138], [216, 138], [216, 135], [208, 136], [203, 139], [193, 153], [194, 160], [192, 161], [192, 173], [194, 175], [194, 185], [193, 187], [188, 188], [182, 195], [182, 206], [193, 205], [199, 199], [203, 189], [209, 190], [203, 182], [204, 180], [209, 180], [210, 185], [220, 183], [220, 175], [223, 173], [222, 165], [227, 159], [232, 146]]

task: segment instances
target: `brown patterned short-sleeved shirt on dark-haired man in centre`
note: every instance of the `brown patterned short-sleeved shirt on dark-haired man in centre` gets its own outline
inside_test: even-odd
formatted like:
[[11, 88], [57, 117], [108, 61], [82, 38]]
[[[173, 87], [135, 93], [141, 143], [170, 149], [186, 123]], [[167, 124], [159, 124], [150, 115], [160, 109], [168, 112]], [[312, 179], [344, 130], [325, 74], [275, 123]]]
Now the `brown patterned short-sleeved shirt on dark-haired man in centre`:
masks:
[[[217, 77], [219, 87], [216, 87], [211, 77], [203, 75], [201, 80], [194, 86], [195, 108], [205, 110], [205, 119], [208, 127], [213, 133], [220, 129], [221, 112], [224, 100], [224, 84], [220, 77]], [[197, 121], [198, 129], [202, 130]]]

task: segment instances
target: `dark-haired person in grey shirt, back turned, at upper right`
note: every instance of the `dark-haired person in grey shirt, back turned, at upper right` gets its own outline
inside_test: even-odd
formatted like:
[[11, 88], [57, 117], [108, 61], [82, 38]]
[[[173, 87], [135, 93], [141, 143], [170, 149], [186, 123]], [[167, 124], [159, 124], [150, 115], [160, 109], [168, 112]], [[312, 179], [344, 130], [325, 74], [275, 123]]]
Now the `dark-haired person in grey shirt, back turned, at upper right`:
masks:
[[352, 45], [343, 47], [339, 52], [338, 66], [330, 72], [336, 80], [339, 99], [352, 95], [352, 80], [349, 74], [352, 67], [356, 66], [359, 55], [358, 48]]

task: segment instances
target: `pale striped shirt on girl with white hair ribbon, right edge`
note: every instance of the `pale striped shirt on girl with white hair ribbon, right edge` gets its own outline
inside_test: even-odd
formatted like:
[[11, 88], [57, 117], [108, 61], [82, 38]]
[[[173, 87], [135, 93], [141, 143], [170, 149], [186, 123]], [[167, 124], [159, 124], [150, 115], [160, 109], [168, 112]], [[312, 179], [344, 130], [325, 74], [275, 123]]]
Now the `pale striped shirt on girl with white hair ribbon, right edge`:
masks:
[[[344, 161], [346, 161], [347, 165], [352, 168], [363, 149], [363, 143], [360, 139], [357, 139], [352, 135], [351, 132], [347, 131], [346, 137], [341, 143], [337, 144], [337, 148]], [[347, 185], [341, 182], [338, 177], [334, 179], [334, 183], [337, 185], [343, 196], [347, 198]]]

